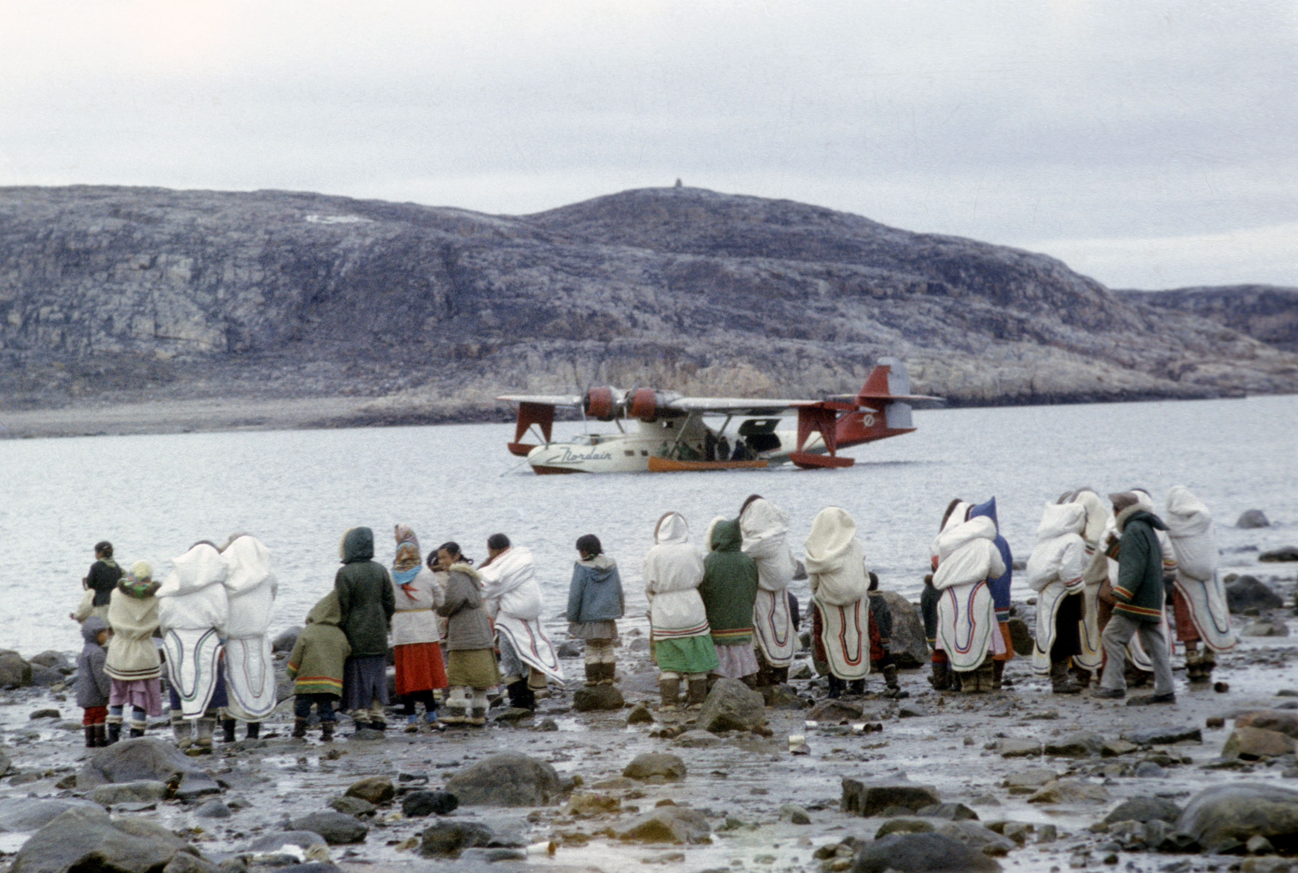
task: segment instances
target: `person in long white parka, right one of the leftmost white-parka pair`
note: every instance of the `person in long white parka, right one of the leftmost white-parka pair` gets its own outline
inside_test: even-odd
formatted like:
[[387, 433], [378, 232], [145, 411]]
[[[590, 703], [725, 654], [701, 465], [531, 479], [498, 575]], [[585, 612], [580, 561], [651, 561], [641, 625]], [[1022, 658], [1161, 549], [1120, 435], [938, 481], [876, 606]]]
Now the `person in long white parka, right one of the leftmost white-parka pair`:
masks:
[[270, 570], [270, 550], [249, 534], [231, 534], [221, 556], [230, 601], [225, 638], [225, 740], [235, 740], [235, 720], [248, 725], [248, 739], [275, 709], [275, 663], [266, 629], [275, 612], [279, 583]]

